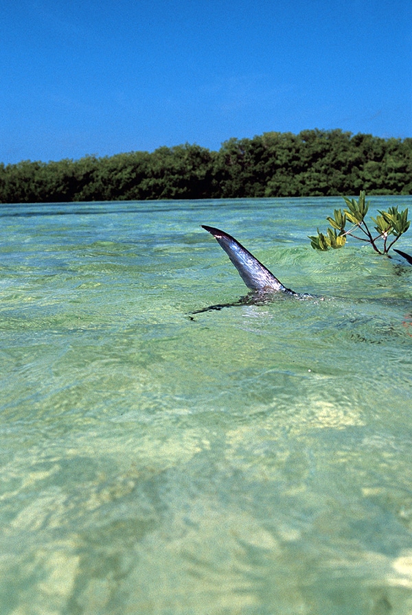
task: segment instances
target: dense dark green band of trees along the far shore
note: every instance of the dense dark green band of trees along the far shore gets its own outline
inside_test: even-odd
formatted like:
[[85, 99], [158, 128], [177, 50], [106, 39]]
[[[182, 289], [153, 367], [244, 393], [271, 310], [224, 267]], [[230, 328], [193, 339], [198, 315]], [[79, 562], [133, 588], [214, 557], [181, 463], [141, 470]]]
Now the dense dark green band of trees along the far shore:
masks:
[[0, 202], [412, 194], [412, 139], [265, 132], [152, 153], [0, 164]]

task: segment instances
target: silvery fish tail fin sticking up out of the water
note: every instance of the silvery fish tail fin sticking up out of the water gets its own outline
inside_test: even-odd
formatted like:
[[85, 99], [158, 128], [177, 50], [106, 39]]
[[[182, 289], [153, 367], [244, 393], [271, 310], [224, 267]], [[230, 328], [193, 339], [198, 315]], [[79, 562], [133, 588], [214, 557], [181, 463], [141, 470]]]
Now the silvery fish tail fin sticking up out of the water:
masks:
[[294, 297], [301, 296], [294, 290], [286, 288], [267, 267], [229, 233], [208, 227], [206, 224], [201, 224], [201, 227], [213, 235], [220, 247], [225, 250], [247, 288], [259, 293], [284, 292]]

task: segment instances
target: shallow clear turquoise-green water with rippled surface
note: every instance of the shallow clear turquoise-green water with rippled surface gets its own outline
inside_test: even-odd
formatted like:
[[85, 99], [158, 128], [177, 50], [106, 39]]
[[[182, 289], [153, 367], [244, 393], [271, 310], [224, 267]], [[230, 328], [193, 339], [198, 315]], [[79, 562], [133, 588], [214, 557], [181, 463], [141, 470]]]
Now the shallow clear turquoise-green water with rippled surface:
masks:
[[[0, 206], [1, 615], [411, 613], [412, 267], [342, 203]], [[199, 224], [315, 296], [192, 314]]]

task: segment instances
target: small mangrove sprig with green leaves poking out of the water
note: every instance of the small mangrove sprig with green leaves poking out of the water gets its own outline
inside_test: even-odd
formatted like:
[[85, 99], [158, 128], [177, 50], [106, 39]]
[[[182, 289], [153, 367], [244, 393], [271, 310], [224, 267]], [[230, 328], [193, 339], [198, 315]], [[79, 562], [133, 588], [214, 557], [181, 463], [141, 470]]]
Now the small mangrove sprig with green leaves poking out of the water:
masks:
[[[371, 244], [379, 254], [387, 254], [393, 244], [398, 241], [399, 237], [407, 232], [409, 225], [408, 209], [398, 211], [398, 206], [389, 207], [388, 211], [378, 210], [379, 215], [372, 218], [375, 223], [375, 230], [378, 233], [376, 237], [371, 235], [365, 216], [369, 209], [370, 201], [366, 200], [365, 190], [361, 190], [358, 200], [343, 197], [347, 205], [347, 209], [335, 209], [334, 218], [328, 216], [331, 229], [327, 229], [327, 235], [324, 235], [317, 229], [317, 235], [310, 236], [310, 245], [314, 250], [328, 250], [329, 248], [343, 248], [346, 242], [347, 235], [351, 235], [355, 239], [366, 241]], [[345, 231], [347, 220], [354, 226], [349, 231]], [[354, 235], [354, 231], [358, 229], [363, 233], [362, 237]], [[339, 232], [338, 232], [339, 231]], [[388, 241], [390, 235], [395, 239]], [[382, 249], [376, 244], [377, 240], [383, 241]]]

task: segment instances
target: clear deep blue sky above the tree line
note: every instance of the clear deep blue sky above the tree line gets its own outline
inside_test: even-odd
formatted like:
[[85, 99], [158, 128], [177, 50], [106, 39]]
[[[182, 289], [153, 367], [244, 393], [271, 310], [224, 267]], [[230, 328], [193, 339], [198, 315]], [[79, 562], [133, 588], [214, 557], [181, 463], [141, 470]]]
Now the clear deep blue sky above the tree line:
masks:
[[412, 0], [15, 0], [0, 162], [342, 128], [412, 137]]

